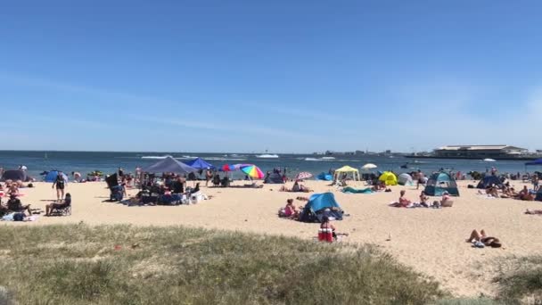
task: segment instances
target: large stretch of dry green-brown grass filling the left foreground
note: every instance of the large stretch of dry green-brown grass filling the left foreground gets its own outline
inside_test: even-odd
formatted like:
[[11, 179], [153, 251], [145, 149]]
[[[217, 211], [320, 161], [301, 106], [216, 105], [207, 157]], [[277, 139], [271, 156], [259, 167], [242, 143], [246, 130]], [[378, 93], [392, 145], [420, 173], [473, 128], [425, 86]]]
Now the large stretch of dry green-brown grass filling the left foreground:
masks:
[[447, 296], [371, 246], [185, 227], [4, 226], [0, 270], [0, 301], [20, 304], [423, 304]]

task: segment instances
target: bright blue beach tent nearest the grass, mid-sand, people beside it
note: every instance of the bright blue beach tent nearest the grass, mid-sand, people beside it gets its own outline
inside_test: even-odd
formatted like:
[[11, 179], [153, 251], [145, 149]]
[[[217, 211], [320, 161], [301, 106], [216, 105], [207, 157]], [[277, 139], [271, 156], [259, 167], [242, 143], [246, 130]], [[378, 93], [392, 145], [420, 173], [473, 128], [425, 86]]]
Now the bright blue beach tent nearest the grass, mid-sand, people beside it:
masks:
[[301, 210], [300, 221], [320, 222], [322, 217], [333, 217], [335, 220], [342, 220], [342, 209], [335, 201], [333, 193], [313, 194], [307, 204]]

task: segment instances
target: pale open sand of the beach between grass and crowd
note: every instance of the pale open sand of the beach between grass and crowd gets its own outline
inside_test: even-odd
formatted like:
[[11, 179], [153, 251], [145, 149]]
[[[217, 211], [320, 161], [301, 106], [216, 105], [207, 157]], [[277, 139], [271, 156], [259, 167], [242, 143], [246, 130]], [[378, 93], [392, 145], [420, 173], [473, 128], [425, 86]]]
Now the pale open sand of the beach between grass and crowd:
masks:
[[[191, 183], [189, 183], [190, 185]], [[242, 182], [237, 182], [242, 184]], [[444, 209], [403, 209], [388, 204], [398, 199], [401, 189], [416, 201], [419, 191], [413, 186], [391, 186], [391, 193], [342, 194], [327, 182], [307, 181], [304, 185], [316, 193], [331, 191], [337, 202], [350, 215], [334, 225], [349, 233], [342, 242], [373, 243], [390, 252], [400, 262], [437, 279], [456, 296], [494, 295], [491, 280], [497, 268], [505, 267], [513, 258], [542, 251], [542, 217], [525, 215], [526, 209], [542, 209], [540, 202], [512, 199], [487, 199], [468, 189], [472, 181], [459, 182], [461, 196], [454, 206]], [[365, 187], [363, 182], [352, 186]], [[514, 182], [516, 189], [521, 182]], [[260, 189], [203, 187], [213, 198], [195, 205], [128, 207], [103, 202], [109, 198], [105, 183], [70, 183], [66, 191], [72, 195], [72, 215], [40, 216], [34, 222], [0, 222], [0, 226], [42, 226], [85, 222], [91, 225], [132, 224], [136, 226], [190, 226], [240, 230], [269, 235], [295, 235], [312, 239], [317, 224], [278, 218], [277, 210], [288, 198], [309, 194], [279, 192], [281, 185], [265, 185]], [[292, 183], [287, 184], [292, 186]], [[128, 190], [136, 194], [137, 190]], [[37, 183], [24, 188], [22, 202], [45, 210], [45, 204], [56, 198], [51, 184]], [[435, 200], [437, 198], [431, 198]], [[296, 201], [296, 205], [303, 202]], [[485, 229], [503, 243], [500, 249], [475, 249], [465, 239], [472, 229]], [[387, 241], [391, 235], [391, 241]]]

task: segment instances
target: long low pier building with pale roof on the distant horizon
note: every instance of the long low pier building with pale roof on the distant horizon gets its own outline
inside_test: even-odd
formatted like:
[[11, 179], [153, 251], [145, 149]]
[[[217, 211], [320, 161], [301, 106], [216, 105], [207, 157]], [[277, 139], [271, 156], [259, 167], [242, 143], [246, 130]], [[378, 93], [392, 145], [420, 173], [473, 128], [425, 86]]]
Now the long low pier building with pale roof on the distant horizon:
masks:
[[448, 145], [435, 149], [438, 158], [513, 159], [529, 153], [526, 148], [510, 145]]

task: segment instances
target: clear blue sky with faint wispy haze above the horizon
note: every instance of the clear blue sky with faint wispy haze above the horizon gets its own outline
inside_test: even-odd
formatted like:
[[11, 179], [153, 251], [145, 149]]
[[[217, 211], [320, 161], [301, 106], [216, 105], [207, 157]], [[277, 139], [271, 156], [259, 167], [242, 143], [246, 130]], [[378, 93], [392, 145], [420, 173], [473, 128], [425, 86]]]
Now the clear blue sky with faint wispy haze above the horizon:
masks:
[[2, 149], [542, 149], [540, 1], [17, 1]]

